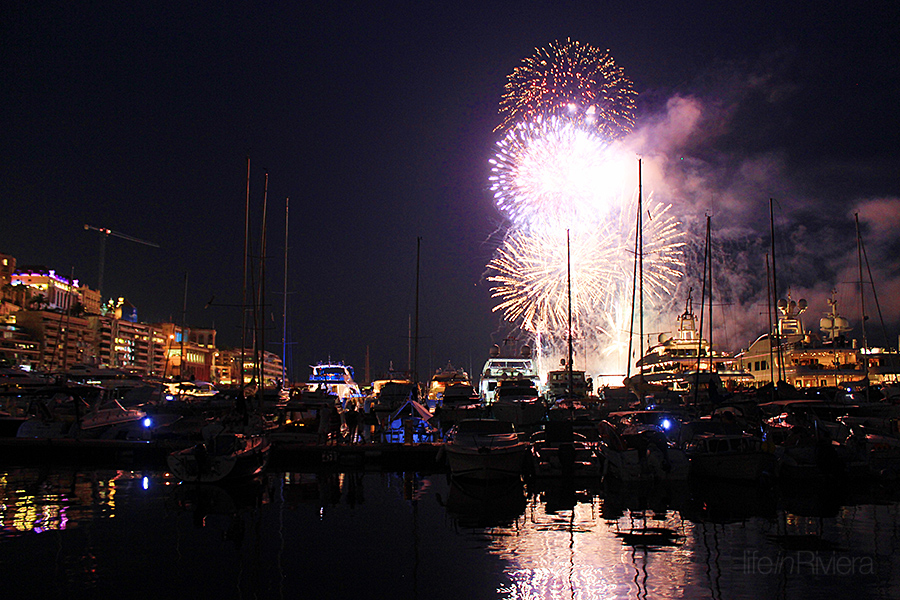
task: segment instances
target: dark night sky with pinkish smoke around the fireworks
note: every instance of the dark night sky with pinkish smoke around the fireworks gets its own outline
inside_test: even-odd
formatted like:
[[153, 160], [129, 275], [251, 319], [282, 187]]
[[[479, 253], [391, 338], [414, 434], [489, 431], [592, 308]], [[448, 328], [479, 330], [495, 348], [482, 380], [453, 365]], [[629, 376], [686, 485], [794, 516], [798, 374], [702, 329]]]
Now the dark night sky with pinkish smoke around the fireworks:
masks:
[[108, 239], [104, 296], [126, 297], [141, 321], [179, 322], [187, 272], [188, 324], [237, 344], [249, 156], [255, 255], [268, 173], [266, 338], [279, 354], [290, 198], [296, 378], [331, 358], [361, 379], [367, 348], [373, 376], [406, 367], [418, 237], [419, 370], [477, 371], [509, 330], [485, 280], [505, 226], [488, 183], [503, 85], [535, 48], [571, 38], [609, 49], [634, 82], [645, 187], [687, 229], [712, 215], [726, 349], [765, 330], [770, 198], [779, 287], [809, 298], [816, 320], [832, 288], [857, 320], [859, 212], [896, 346], [898, 12], [880, 1], [4, 2], [0, 252], [96, 287], [100, 237], [85, 224], [155, 242]]

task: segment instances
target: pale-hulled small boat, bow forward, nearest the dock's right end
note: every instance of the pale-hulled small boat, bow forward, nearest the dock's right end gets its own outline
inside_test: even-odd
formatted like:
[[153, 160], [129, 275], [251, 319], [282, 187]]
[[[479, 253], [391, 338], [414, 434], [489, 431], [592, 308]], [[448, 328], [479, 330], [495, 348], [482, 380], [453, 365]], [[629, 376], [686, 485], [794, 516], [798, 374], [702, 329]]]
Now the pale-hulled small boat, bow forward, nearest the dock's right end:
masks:
[[465, 419], [450, 429], [443, 451], [453, 477], [507, 479], [522, 476], [528, 444], [510, 422]]

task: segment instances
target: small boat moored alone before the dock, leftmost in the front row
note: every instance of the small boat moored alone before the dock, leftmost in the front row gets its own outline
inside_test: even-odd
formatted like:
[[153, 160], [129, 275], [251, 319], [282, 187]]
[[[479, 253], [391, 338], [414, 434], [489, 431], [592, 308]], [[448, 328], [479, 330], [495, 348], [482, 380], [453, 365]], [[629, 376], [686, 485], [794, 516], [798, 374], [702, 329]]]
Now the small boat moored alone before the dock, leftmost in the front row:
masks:
[[169, 471], [181, 481], [216, 483], [254, 477], [269, 462], [264, 435], [245, 435], [221, 426], [206, 429], [200, 444], [169, 454]]

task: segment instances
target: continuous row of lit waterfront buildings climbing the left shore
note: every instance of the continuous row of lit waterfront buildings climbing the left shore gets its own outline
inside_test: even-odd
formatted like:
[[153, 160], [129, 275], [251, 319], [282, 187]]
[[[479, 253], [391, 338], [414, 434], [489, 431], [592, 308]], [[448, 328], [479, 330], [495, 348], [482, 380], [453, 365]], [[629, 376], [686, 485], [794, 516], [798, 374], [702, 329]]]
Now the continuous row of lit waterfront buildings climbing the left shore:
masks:
[[[142, 323], [125, 298], [106, 304], [98, 290], [46, 267], [17, 269], [0, 254], [0, 361], [45, 372], [78, 366], [237, 386], [256, 382], [255, 352], [218, 350], [216, 330]], [[274, 387], [282, 359], [261, 353], [261, 379]]]

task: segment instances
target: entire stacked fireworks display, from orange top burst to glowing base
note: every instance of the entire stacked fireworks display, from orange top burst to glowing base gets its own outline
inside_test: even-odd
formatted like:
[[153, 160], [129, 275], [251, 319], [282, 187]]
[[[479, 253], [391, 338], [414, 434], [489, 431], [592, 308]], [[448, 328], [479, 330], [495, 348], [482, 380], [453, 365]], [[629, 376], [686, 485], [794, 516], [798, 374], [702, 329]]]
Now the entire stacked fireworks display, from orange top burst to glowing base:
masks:
[[[631, 82], [608, 53], [566, 40], [525, 59], [505, 90], [490, 187], [510, 229], [487, 265], [494, 311], [533, 338], [539, 368], [555, 367], [568, 345], [571, 268], [580, 368], [624, 373], [638, 197], [634, 155], [618, 140], [634, 126]], [[684, 233], [670, 205], [643, 208], [645, 324], [656, 327], [646, 316], [671, 304]]]

